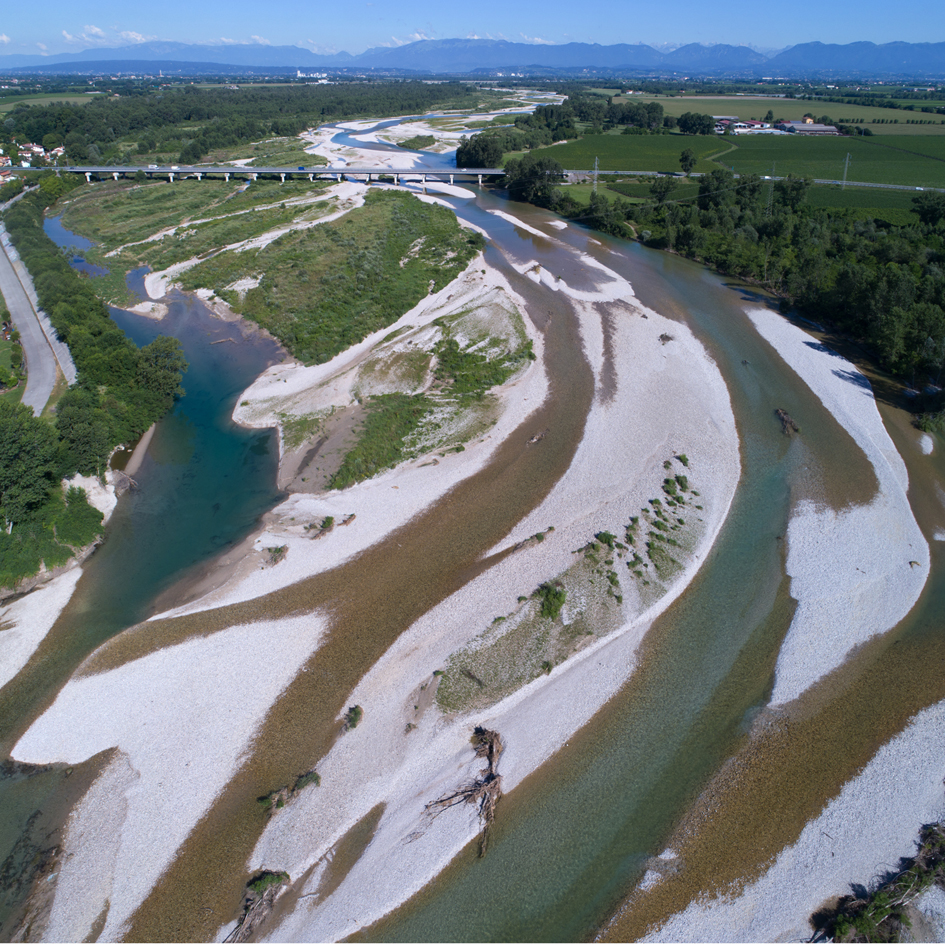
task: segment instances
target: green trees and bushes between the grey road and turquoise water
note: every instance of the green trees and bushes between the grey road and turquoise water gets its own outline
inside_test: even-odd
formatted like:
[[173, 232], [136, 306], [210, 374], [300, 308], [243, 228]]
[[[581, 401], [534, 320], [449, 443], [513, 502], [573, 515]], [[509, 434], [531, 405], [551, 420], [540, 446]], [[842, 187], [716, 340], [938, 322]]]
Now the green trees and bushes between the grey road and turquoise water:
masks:
[[85, 492], [60, 482], [101, 475], [111, 451], [138, 438], [181, 393], [186, 369], [179, 342], [160, 337], [140, 350], [117, 328], [87, 280], [43, 233], [42, 188], [4, 215], [39, 302], [68, 344], [78, 379], [55, 415], [34, 417], [0, 401], [0, 586], [65, 563], [102, 533], [102, 514]]

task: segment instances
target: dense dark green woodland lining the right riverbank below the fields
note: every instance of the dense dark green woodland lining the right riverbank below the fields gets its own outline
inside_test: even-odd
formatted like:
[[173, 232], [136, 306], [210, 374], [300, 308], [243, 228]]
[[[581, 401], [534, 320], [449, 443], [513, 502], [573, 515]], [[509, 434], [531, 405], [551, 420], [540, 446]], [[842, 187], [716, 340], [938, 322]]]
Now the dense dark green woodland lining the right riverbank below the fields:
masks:
[[[656, 177], [650, 202], [595, 194], [585, 205], [556, 186], [562, 168], [550, 156], [527, 154], [506, 170], [513, 199], [756, 282], [785, 309], [796, 306], [865, 342], [908, 382], [943, 379], [945, 194], [918, 194], [916, 222], [892, 226], [807, 206], [810, 181], [800, 177], [766, 183], [720, 168], [700, 178], [695, 199], [673, 200], [675, 178]], [[927, 425], [938, 422], [926, 417]]]

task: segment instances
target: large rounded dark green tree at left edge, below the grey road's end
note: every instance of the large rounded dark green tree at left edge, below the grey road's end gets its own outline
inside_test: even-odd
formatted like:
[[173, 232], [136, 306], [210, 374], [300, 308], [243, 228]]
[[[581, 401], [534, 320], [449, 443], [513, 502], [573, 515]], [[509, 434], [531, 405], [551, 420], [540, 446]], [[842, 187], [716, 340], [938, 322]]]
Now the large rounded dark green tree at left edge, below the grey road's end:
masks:
[[0, 513], [7, 528], [26, 518], [58, 483], [56, 431], [22, 403], [0, 400]]

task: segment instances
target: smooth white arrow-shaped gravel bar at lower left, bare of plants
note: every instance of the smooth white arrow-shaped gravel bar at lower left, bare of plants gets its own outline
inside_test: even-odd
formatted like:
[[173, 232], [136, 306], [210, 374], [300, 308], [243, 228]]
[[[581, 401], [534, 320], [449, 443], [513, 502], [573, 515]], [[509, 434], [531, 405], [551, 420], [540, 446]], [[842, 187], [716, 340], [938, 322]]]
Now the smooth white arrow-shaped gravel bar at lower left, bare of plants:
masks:
[[117, 748], [70, 816], [48, 940], [80, 941], [106, 912], [101, 939], [122, 936], [323, 627], [313, 615], [260, 621], [100, 675], [80, 667], [12, 752], [75, 764]]

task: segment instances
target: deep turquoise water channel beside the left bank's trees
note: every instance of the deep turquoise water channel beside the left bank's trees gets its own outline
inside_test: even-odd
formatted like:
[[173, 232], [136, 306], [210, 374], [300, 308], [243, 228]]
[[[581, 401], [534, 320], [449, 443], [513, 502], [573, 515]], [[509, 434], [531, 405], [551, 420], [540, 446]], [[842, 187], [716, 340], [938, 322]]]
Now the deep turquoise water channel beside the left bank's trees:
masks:
[[[158, 593], [239, 542], [279, 499], [274, 431], [242, 429], [230, 414], [240, 392], [281, 358], [281, 348], [259, 335], [243, 338], [237, 325], [183, 296], [161, 322], [119, 309], [111, 314], [139, 346], [158, 334], [180, 339], [190, 364], [185, 396], [158, 424], [135, 475], [140, 488], [120, 499], [69, 606], [27, 666], [0, 689], [3, 757], [89, 653], [147, 618]], [[14, 846], [62, 786], [61, 769], [40, 771], [28, 783], [0, 770], [0, 922], [18, 894]]]

